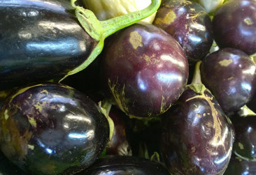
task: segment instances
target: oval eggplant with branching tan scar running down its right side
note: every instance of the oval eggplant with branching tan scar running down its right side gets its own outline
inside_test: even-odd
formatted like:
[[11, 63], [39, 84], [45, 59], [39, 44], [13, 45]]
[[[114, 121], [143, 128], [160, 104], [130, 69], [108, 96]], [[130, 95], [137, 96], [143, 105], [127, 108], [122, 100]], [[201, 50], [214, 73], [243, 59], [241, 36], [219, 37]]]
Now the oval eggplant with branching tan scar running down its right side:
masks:
[[208, 90], [187, 89], [162, 117], [162, 155], [173, 174], [223, 174], [234, 133]]

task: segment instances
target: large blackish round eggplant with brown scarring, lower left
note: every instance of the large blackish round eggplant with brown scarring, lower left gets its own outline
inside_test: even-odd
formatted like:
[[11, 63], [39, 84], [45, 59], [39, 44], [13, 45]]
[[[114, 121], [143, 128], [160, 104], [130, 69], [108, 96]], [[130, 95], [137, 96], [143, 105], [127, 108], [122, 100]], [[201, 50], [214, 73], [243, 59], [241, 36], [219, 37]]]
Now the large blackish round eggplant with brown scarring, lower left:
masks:
[[109, 125], [99, 107], [69, 86], [36, 84], [6, 99], [1, 151], [31, 174], [74, 174], [101, 155]]

